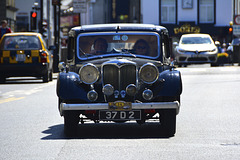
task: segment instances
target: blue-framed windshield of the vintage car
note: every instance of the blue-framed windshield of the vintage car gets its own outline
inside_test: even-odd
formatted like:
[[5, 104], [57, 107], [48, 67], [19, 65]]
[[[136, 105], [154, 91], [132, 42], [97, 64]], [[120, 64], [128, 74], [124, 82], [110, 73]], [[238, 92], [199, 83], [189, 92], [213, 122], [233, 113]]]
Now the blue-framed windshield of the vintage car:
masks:
[[77, 39], [80, 59], [114, 55], [156, 58], [159, 56], [159, 36], [156, 33], [85, 33]]

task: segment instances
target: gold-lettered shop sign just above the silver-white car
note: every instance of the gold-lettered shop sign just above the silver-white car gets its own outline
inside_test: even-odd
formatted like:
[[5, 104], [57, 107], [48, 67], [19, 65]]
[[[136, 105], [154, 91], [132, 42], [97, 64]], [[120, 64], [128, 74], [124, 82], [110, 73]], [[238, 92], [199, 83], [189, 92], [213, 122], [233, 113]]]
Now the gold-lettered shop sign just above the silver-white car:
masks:
[[183, 34], [183, 33], [200, 33], [200, 27], [191, 26], [190, 24], [183, 24], [180, 27], [174, 28], [174, 34]]

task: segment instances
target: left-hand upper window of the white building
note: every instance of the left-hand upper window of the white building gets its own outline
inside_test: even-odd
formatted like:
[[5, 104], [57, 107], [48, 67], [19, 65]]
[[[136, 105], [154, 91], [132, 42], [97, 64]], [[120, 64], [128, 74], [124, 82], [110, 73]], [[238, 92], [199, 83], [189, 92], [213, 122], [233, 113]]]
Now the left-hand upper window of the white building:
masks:
[[176, 0], [161, 0], [161, 23], [176, 23]]

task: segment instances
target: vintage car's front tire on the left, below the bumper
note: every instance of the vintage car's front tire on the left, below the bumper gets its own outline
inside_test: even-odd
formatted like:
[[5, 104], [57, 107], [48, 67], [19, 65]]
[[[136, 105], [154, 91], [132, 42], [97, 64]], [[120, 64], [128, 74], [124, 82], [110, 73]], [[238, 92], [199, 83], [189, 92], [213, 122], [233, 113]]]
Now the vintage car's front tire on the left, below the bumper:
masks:
[[76, 111], [64, 111], [64, 134], [67, 137], [78, 133], [79, 114]]

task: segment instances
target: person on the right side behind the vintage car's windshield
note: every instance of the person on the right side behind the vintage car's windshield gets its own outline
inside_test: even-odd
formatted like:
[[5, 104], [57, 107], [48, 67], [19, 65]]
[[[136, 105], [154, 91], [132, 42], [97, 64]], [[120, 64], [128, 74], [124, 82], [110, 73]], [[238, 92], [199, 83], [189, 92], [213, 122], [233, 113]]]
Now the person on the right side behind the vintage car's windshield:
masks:
[[133, 46], [133, 50], [139, 55], [149, 55], [150, 47], [144, 39], [139, 39]]

